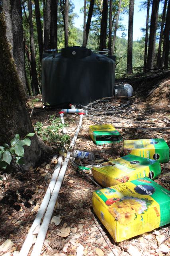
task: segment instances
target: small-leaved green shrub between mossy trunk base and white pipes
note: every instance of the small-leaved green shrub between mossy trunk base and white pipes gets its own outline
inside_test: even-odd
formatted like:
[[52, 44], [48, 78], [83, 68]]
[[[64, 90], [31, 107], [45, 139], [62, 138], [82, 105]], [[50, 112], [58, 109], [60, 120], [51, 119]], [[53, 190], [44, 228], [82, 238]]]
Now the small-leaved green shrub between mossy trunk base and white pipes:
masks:
[[63, 134], [62, 130], [66, 124], [62, 124], [60, 118], [55, 118], [55, 115], [50, 116], [49, 126], [43, 127], [41, 122], [35, 124], [35, 132], [42, 138], [44, 142], [51, 144], [57, 144], [59, 147], [68, 145], [70, 143], [70, 137], [67, 134]]

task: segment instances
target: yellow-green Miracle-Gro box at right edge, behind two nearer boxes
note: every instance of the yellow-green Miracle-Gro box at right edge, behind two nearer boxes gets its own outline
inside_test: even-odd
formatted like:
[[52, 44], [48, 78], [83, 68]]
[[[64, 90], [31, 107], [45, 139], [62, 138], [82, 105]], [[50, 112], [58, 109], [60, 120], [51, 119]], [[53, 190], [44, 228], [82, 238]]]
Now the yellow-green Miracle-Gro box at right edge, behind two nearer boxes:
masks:
[[164, 139], [124, 140], [123, 155], [133, 154], [154, 160], [160, 163], [169, 162], [169, 147]]

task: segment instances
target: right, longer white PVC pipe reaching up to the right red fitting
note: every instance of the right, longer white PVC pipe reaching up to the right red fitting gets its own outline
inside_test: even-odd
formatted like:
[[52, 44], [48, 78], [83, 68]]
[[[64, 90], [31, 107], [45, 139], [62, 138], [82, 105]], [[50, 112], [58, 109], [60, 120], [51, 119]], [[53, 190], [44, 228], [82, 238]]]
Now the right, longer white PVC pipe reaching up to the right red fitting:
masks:
[[[76, 139], [78, 137], [78, 133], [80, 132], [80, 127], [82, 125], [82, 119], [83, 119], [83, 114], [80, 115], [80, 121], [79, 121], [79, 124], [78, 124], [78, 128], [77, 128], [77, 130], [74, 134], [74, 138], [72, 139], [72, 142], [70, 144], [69, 149], [73, 148], [74, 145], [75, 145]], [[51, 216], [53, 214], [53, 210], [54, 210], [54, 207], [55, 207], [58, 195], [59, 195], [59, 191], [60, 191], [60, 188], [61, 188], [61, 184], [63, 182], [64, 174], [66, 172], [66, 168], [67, 168], [69, 160], [70, 160], [70, 152], [67, 153], [67, 156], [64, 159], [63, 166], [61, 168], [61, 171], [60, 171], [59, 177], [57, 179], [57, 182], [55, 184], [55, 188], [53, 190], [53, 194], [51, 196], [49, 205], [47, 207], [45, 216], [43, 218], [43, 222], [41, 224], [41, 228], [39, 230], [39, 234], [37, 236], [37, 240], [35, 242], [35, 245], [34, 245], [32, 253], [31, 253], [31, 256], [39, 256], [41, 254], [41, 250], [42, 250], [42, 247], [43, 247], [45, 236], [47, 234], [47, 230], [48, 230], [48, 227], [49, 227]]]

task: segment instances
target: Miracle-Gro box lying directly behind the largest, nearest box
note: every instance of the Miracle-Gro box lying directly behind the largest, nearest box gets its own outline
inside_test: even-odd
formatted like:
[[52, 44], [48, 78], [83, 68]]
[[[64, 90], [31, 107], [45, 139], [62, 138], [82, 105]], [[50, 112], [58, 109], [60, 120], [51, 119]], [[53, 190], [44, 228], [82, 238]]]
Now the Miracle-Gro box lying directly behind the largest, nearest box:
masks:
[[158, 161], [134, 155], [123, 156], [105, 164], [92, 168], [94, 180], [105, 188], [143, 177], [155, 179], [161, 173]]

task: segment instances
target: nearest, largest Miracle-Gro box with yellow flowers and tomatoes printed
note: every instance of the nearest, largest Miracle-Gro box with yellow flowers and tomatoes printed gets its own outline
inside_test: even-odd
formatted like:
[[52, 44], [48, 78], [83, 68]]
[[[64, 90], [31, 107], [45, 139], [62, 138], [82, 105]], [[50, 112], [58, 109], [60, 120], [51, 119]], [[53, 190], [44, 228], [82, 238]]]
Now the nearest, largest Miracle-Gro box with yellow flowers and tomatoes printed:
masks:
[[96, 190], [92, 204], [115, 242], [170, 223], [170, 191], [149, 178]]

